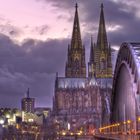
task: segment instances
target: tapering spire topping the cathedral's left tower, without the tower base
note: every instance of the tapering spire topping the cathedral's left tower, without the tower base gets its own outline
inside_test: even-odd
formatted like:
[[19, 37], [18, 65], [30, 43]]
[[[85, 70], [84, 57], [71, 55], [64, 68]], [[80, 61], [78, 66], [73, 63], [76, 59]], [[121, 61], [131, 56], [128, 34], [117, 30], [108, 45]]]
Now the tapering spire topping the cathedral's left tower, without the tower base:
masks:
[[73, 24], [71, 47], [74, 47], [74, 48], [82, 47], [77, 3], [75, 5], [75, 17], [74, 17], [74, 24]]

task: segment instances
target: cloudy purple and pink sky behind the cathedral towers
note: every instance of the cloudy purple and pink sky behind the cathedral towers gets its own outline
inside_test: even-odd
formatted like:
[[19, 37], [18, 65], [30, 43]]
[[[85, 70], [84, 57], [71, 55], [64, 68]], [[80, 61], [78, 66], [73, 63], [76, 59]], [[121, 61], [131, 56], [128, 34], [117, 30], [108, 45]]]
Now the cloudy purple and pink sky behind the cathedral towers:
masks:
[[[64, 76], [76, 0], [1, 0], [0, 107], [18, 107], [30, 88], [36, 106], [52, 106], [55, 73]], [[96, 42], [100, 4], [108, 41], [118, 49], [140, 39], [139, 0], [77, 0], [88, 61], [90, 36]]]

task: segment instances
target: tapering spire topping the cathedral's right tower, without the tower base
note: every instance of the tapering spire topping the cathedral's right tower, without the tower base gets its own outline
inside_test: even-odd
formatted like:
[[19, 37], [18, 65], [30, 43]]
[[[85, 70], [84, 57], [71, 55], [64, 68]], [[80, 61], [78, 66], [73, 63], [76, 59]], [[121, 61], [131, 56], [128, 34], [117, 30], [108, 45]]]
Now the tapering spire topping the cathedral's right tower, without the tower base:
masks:
[[97, 38], [97, 46], [101, 50], [105, 50], [108, 46], [107, 43], [107, 35], [105, 28], [105, 19], [104, 19], [104, 6], [101, 4], [101, 12], [100, 12], [100, 21], [99, 21], [99, 29], [98, 29], [98, 38]]

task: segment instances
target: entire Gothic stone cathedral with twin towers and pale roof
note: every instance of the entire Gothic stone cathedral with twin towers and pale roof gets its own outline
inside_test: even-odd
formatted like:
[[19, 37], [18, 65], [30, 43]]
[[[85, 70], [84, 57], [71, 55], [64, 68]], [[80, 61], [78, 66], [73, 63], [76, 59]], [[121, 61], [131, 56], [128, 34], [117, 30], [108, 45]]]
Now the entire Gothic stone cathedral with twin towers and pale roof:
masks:
[[[103, 4], [101, 4], [97, 42], [91, 39], [86, 68], [85, 47], [82, 44], [78, 6], [71, 42], [68, 45], [65, 77], [56, 75], [53, 114], [71, 127], [93, 124], [95, 128], [109, 122], [112, 89], [111, 48], [107, 41]], [[88, 72], [87, 72], [88, 70]]]

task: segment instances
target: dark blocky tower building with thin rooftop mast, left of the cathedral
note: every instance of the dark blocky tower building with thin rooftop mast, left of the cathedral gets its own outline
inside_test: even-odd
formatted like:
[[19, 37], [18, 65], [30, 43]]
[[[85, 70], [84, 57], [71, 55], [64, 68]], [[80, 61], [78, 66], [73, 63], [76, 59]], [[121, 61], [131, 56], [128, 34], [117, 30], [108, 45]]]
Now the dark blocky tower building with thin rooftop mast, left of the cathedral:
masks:
[[29, 88], [27, 90], [27, 96], [21, 100], [21, 109], [24, 112], [34, 112], [35, 108], [35, 99], [30, 98]]

